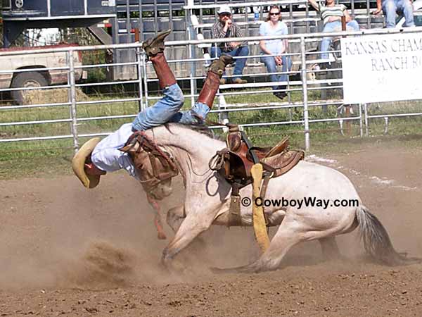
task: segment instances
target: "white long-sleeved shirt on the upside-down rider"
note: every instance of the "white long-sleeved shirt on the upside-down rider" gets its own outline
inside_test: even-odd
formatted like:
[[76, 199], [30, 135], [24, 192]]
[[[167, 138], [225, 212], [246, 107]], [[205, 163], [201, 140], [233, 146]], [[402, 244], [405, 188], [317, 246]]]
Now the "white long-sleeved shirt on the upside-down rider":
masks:
[[100, 170], [105, 170], [106, 172], [114, 172], [124, 168], [131, 176], [139, 180], [129, 154], [119, 150], [132, 133], [132, 123], [126, 123], [119, 130], [102, 139], [92, 151], [92, 163]]

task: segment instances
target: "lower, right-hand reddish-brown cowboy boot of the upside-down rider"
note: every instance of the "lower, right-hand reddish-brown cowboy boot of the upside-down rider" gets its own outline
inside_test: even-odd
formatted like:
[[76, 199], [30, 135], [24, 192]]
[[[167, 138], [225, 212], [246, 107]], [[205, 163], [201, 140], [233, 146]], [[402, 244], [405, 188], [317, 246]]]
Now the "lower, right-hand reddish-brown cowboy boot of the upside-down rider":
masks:
[[225, 54], [211, 63], [210, 68], [208, 68], [207, 78], [205, 79], [203, 89], [201, 89], [199, 93], [198, 102], [202, 102], [209, 108], [212, 108], [215, 94], [217, 94], [220, 84], [219, 80], [224, 74], [226, 66], [231, 63], [233, 63], [233, 58], [230, 55]]

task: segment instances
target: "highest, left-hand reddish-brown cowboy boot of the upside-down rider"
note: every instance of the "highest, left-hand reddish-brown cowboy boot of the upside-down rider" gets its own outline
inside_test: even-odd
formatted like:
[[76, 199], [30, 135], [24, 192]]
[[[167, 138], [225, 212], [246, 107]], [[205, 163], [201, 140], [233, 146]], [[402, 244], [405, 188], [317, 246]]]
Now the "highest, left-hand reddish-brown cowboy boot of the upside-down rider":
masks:
[[176, 83], [176, 78], [174, 78], [172, 70], [170, 69], [170, 66], [164, 56], [164, 39], [170, 34], [170, 32], [172, 31], [167, 30], [161, 32], [156, 37], [147, 39], [142, 44], [142, 48], [146, 52], [148, 60], [153, 63], [161, 89]]

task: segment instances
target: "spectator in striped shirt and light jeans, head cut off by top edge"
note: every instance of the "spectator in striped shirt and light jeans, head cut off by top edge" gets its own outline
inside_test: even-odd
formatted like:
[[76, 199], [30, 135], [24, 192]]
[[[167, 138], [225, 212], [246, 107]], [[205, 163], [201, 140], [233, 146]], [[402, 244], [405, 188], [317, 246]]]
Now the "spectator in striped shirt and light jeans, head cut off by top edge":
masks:
[[[346, 27], [354, 31], [359, 31], [359, 24], [353, 20], [347, 12], [344, 4], [335, 4], [335, 0], [326, 0], [325, 6], [321, 3], [316, 3], [315, 0], [308, 0], [309, 4], [315, 8], [321, 15], [324, 21], [324, 30], [322, 32], [336, 32], [341, 31], [341, 17], [346, 18]], [[330, 47], [332, 38], [324, 37], [321, 41], [321, 59], [328, 59], [328, 49]]]

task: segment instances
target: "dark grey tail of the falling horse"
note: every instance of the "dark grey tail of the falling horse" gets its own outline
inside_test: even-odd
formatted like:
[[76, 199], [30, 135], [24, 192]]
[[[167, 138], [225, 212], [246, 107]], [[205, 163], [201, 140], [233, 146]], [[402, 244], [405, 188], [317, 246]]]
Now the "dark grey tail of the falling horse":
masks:
[[400, 254], [392, 247], [390, 237], [383, 224], [373, 216], [364, 206], [359, 206], [356, 211], [357, 223], [361, 232], [364, 247], [373, 259], [388, 266], [420, 263], [422, 259], [407, 257]]

